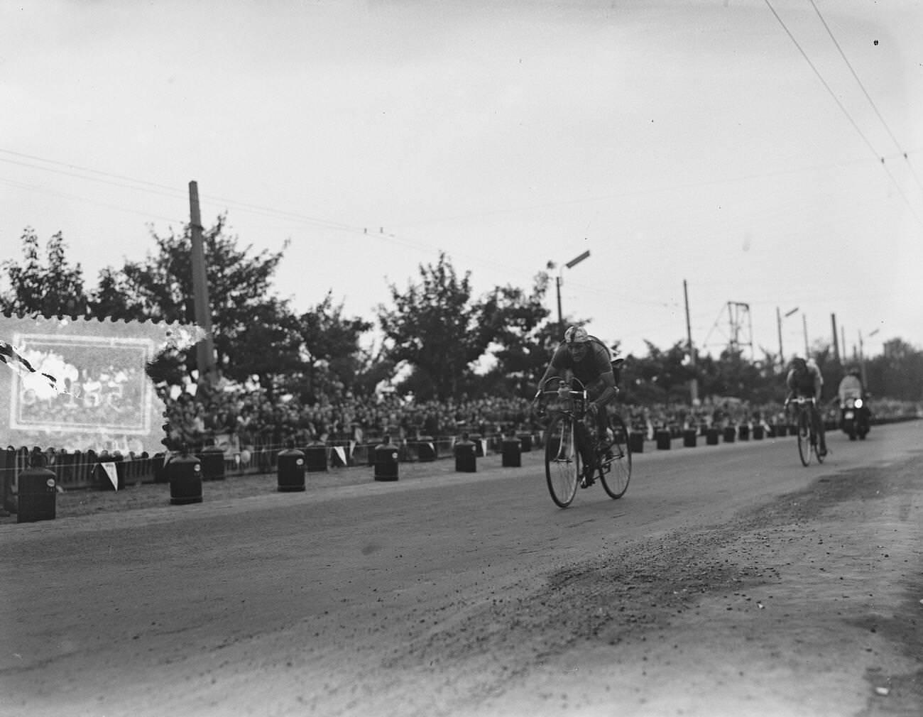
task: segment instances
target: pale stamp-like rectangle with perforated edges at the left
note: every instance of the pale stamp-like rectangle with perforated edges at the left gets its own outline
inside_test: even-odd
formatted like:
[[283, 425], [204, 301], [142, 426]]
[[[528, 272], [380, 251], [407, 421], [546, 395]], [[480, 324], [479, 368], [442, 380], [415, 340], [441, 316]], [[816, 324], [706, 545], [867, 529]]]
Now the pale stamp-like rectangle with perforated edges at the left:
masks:
[[0, 442], [4, 446], [163, 450], [163, 403], [145, 373], [195, 327], [0, 315]]

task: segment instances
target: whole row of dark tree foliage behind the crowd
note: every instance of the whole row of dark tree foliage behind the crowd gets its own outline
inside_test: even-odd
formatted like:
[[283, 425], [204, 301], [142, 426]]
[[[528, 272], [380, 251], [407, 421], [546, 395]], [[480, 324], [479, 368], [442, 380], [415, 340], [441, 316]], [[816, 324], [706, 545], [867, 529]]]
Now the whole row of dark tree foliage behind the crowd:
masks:
[[[189, 227], [179, 234], [150, 233], [155, 251], [119, 269], [102, 269], [88, 293], [80, 265], [67, 260], [62, 233], [51, 237], [42, 256], [38, 236], [27, 227], [23, 260], [0, 263], [9, 284], [0, 293], [0, 309], [26, 316], [194, 322]], [[270, 395], [291, 392], [308, 403], [335, 400], [346, 391], [368, 395], [409, 365], [412, 375], [401, 388], [420, 398], [529, 396], [561, 338], [545, 308], [546, 273], [529, 290], [497, 286], [475, 298], [470, 272], [460, 276], [440, 254], [435, 265], [419, 267], [417, 281], [405, 291], [390, 285], [391, 305], [378, 306], [383, 343], [377, 350], [363, 349], [372, 323], [344, 316], [331, 292], [300, 316], [273, 295], [282, 252], [254, 256], [250, 245], [239, 247], [225, 233], [223, 216], [205, 233], [204, 244], [218, 365], [237, 382], [257, 376]], [[898, 338], [883, 348], [864, 362], [869, 391], [880, 398], [923, 400], [923, 352]], [[824, 399], [831, 400], [845, 366], [827, 344], [816, 344], [811, 353], [824, 377]], [[625, 358], [618, 399], [623, 403], [688, 402], [693, 377], [702, 398], [762, 403], [785, 395], [785, 370], [772, 353], [751, 361], [725, 351], [701, 356], [693, 368], [686, 342], [677, 341], [665, 350], [648, 342], [645, 355]], [[482, 362], [490, 367], [478, 373], [475, 366]], [[163, 353], [149, 372], [155, 380], [180, 385], [195, 365], [194, 351]]]

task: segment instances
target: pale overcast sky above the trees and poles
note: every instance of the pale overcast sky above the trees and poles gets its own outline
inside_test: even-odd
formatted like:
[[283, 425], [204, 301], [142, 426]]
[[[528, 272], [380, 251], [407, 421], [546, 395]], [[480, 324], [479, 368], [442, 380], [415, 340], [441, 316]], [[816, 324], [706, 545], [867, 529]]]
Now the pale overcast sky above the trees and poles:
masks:
[[786, 354], [832, 314], [850, 353], [920, 346], [920, 30], [917, 0], [3, 3], [0, 257], [62, 231], [90, 288], [195, 180], [206, 226], [291, 239], [299, 311], [372, 318], [440, 249], [477, 293], [590, 249], [564, 313], [626, 353], [685, 339], [684, 279], [713, 353], [728, 302], [757, 357], [777, 308]]

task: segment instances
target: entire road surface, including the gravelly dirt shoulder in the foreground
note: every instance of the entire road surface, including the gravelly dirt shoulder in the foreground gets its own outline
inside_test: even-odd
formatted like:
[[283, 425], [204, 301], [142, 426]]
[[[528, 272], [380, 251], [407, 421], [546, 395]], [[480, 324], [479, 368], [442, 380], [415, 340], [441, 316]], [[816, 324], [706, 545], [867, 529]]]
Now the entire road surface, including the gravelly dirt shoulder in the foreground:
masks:
[[921, 714], [921, 428], [5, 524], [0, 714]]

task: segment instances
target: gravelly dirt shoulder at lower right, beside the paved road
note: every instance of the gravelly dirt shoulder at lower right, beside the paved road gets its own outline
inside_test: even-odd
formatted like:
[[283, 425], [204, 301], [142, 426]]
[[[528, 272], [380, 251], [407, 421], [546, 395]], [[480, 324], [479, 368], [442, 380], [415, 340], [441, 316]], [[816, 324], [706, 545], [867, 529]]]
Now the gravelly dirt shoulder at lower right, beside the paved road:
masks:
[[[923, 714], [921, 462], [821, 476], [473, 615], [461, 628], [469, 644], [495, 664], [529, 664], [451, 713]], [[575, 614], [575, 601], [586, 609]], [[406, 663], [452, 641], [417, 646]], [[516, 647], [528, 643], [531, 659]]]

